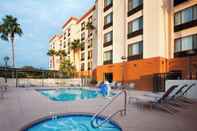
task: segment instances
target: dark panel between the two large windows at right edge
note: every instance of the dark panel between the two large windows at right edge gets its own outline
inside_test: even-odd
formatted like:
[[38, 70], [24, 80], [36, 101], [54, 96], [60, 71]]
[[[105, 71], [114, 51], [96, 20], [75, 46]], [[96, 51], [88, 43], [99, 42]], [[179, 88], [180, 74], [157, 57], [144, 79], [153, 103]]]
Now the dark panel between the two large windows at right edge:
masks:
[[174, 26], [174, 32], [178, 32], [184, 29], [195, 27], [195, 26], [197, 26], [197, 20], [193, 20], [193, 21], [181, 24], [181, 25]]

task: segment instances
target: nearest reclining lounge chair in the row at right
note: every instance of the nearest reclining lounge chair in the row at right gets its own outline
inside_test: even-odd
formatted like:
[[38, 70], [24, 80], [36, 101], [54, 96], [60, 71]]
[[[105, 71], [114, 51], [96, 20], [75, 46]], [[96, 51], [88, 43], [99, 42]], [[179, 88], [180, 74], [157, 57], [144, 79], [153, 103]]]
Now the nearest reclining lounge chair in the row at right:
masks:
[[171, 86], [163, 95], [158, 95], [155, 97], [149, 97], [149, 96], [136, 96], [136, 97], [129, 97], [130, 99], [135, 99], [137, 103], [142, 104], [148, 104], [151, 107], [156, 107], [159, 109], [162, 109], [168, 113], [174, 113], [177, 111], [176, 109], [172, 108], [171, 106], [168, 106], [166, 101], [168, 100], [168, 97], [171, 95], [171, 93], [178, 87], [178, 85]]

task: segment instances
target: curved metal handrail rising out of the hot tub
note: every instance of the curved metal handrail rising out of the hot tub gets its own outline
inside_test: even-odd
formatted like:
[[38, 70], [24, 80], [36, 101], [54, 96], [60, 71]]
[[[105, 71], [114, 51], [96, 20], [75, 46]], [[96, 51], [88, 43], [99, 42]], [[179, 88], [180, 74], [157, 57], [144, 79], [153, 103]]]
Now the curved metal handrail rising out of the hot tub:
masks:
[[[97, 117], [104, 112], [117, 98], [119, 98], [119, 96], [121, 96], [122, 94], [124, 94], [124, 107], [123, 109], [120, 109], [114, 113], [112, 113], [111, 115], [109, 115], [108, 117], [106, 117], [101, 123], [98, 123]], [[106, 122], [108, 122], [108, 120], [110, 120], [112, 117], [114, 117], [115, 115], [117, 115], [118, 113], [121, 113], [121, 115], [125, 116], [126, 115], [126, 111], [127, 111], [127, 91], [126, 90], [122, 90], [120, 93], [118, 93], [111, 101], [109, 101], [106, 105], [104, 105], [91, 119], [91, 125], [94, 128], [99, 128], [101, 126], [103, 126]]]

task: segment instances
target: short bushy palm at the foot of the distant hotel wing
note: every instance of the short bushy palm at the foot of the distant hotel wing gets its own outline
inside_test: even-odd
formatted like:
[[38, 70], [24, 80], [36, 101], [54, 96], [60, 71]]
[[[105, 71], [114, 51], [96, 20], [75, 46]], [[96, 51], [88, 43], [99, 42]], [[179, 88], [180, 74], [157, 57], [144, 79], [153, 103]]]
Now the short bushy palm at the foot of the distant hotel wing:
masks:
[[60, 64], [60, 71], [62, 71], [66, 77], [73, 77], [76, 72], [76, 68], [70, 60], [64, 60]]

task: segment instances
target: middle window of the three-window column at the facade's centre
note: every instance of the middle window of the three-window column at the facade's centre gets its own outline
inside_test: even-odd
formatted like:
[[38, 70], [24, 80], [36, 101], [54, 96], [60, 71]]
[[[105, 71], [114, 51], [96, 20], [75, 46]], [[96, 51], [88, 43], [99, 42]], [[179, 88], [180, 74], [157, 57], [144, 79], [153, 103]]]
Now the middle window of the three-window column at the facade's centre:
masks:
[[137, 18], [128, 23], [128, 33], [143, 29], [143, 17]]

